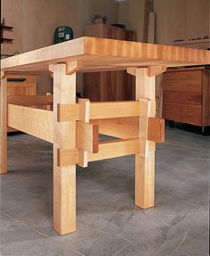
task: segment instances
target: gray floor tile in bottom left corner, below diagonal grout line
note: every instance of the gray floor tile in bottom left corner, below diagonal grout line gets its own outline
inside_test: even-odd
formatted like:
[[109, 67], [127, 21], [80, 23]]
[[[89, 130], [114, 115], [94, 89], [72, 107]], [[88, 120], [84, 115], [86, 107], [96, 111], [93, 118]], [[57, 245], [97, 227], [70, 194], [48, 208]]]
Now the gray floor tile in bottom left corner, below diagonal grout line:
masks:
[[1, 217], [0, 255], [6, 256], [81, 256], [65, 244], [36, 233], [20, 222]]

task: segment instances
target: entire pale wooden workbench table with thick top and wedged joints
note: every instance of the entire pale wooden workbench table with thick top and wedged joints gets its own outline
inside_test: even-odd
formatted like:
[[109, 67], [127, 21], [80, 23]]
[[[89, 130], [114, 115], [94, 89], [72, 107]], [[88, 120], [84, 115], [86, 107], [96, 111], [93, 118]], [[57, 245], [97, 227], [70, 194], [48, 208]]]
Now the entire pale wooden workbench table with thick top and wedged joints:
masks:
[[[76, 231], [76, 164], [135, 154], [135, 204], [154, 206], [155, 144], [164, 121], [155, 118], [155, 76], [166, 67], [210, 64], [210, 53], [169, 45], [81, 37], [1, 64], [0, 173], [7, 172], [7, 125], [53, 144], [53, 227]], [[127, 70], [135, 76], [136, 101], [76, 103], [76, 73]], [[8, 74], [51, 73], [52, 96], [7, 95]], [[53, 111], [30, 106], [49, 105]], [[99, 133], [117, 140], [99, 142]], [[9, 188], [8, 188], [9, 189]]]

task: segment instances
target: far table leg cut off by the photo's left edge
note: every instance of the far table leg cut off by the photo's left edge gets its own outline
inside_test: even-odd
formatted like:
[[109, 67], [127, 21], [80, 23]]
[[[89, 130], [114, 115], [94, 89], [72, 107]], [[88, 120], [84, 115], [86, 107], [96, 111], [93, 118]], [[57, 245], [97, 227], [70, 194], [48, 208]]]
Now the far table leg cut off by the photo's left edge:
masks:
[[7, 80], [4, 73], [1, 73], [0, 86], [0, 174], [7, 173], [7, 118], [6, 118], [6, 97]]

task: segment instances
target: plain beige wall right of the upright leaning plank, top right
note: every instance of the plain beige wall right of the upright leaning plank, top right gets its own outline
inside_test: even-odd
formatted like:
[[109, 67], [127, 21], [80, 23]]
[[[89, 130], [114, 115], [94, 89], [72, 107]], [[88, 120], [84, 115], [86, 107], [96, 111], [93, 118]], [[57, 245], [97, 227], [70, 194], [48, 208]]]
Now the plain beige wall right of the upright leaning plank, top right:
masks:
[[172, 45], [174, 39], [209, 36], [209, 0], [153, 0], [156, 42]]

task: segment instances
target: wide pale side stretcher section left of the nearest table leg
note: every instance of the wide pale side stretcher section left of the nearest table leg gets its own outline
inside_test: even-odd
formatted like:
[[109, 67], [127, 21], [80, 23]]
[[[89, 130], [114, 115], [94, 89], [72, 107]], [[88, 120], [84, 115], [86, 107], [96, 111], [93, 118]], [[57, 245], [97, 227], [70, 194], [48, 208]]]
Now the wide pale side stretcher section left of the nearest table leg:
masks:
[[8, 126], [53, 142], [52, 111], [8, 104]]

